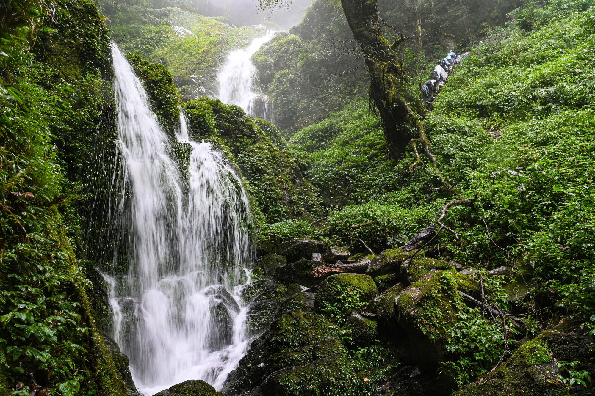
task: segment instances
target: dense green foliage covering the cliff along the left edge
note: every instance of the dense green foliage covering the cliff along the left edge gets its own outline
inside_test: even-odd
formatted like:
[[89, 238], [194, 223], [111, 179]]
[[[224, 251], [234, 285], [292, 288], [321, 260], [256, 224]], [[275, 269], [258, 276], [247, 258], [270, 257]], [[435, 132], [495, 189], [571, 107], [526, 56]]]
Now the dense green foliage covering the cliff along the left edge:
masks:
[[124, 395], [87, 297], [75, 182], [104, 105], [106, 30], [86, 0], [0, 11], [0, 392]]

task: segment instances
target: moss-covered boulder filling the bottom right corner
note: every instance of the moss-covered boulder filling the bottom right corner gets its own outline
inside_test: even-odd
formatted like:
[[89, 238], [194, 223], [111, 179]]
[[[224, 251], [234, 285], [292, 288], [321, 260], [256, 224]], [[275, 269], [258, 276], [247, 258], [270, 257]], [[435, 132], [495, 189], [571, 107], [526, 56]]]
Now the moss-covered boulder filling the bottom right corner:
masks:
[[572, 370], [595, 373], [593, 338], [580, 329], [581, 320], [570, 321], [541, 332], [525, 342], [505, 363], [481, 382], [466, 385], [455, 396], [497, 396], [506, 392], [527, 396], [564, 396], [595, 394], [595, 382], [587, 386], [565, 386], [556, 376], [569, 378], [568, 368], [560, 362], [581, 362]]

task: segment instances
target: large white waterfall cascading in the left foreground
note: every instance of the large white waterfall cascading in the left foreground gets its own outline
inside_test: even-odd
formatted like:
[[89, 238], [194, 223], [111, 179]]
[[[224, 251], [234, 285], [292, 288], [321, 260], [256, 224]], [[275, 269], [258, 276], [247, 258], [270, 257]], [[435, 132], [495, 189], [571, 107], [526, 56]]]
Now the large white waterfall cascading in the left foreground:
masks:
[[[117, 222], [128, 260], [110, 286], [112, 335], [134, 383], [152, 395], [188, 379], [219, 389], [248, 350], [240, 298], [250, 281], [252, 218], [242, 181], [210, 143], [171, 139], [139, 78], [111, 43], [118, 114]], [[189, 162], [177, 161], [173, 144]], [[187, 166], [187, 168], [186, 168]]]

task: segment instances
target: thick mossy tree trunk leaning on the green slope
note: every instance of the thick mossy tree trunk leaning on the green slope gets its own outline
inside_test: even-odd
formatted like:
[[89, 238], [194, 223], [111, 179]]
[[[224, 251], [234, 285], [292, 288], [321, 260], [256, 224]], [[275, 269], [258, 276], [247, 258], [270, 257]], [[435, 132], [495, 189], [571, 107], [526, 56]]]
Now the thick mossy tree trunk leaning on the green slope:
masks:
[[341, 0], [341, 4], [364, 54], [370, 75], [369, 95], [382, 121], [389, 156], [398, 158], [412, 139], [427, 141], [421, 122], [424, 106], [396, 54], [405, 37], [393, 43], [384, 37], [377, 0]]

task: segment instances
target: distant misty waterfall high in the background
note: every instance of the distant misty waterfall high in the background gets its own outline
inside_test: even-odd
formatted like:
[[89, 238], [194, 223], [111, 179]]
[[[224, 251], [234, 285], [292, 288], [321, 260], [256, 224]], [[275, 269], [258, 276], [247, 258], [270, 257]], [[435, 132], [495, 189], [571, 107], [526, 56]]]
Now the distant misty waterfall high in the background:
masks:
[[252, 117], [273, 121], [273, 103], [267, 95], [252, 92], [252, 80], [256, 68], [252, 55], [275, 35], [274, 30], [254, 39], [246, 49], [231, 51], [219, 71], [219, 99], [223, 103], [238, 105]]

